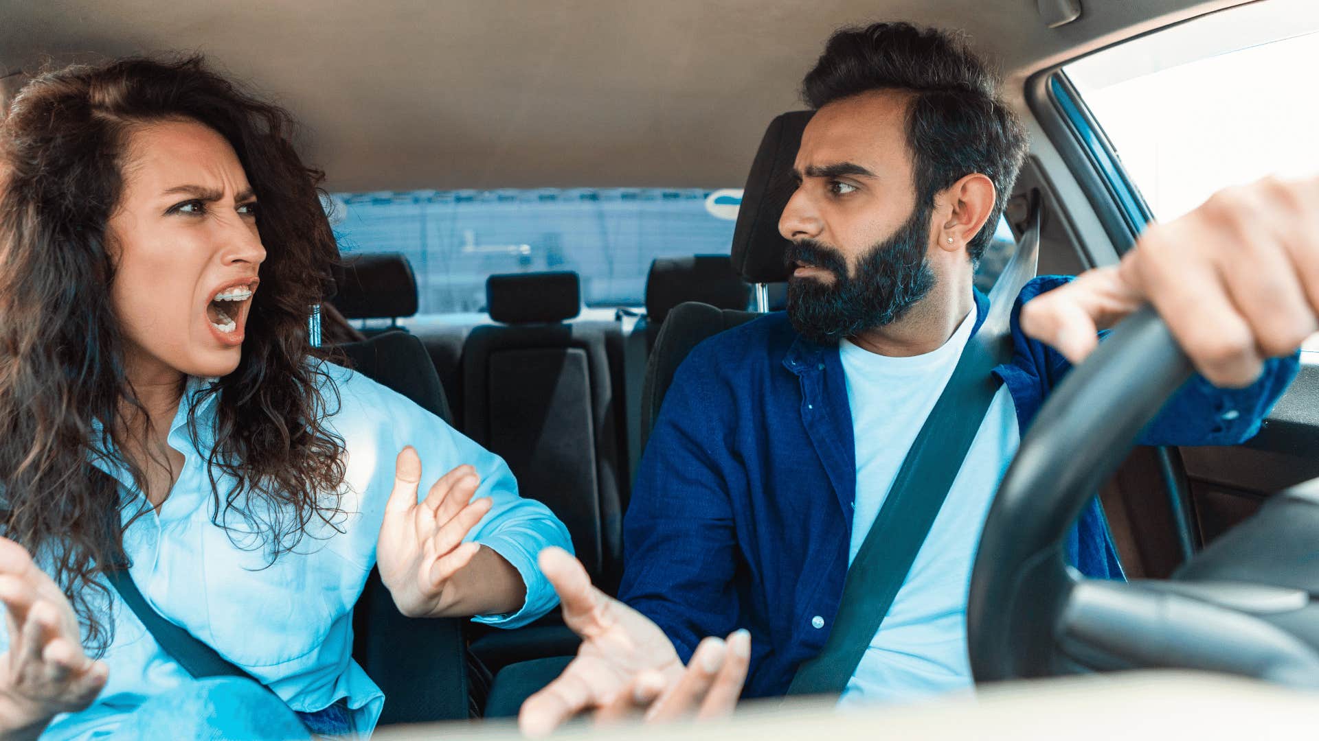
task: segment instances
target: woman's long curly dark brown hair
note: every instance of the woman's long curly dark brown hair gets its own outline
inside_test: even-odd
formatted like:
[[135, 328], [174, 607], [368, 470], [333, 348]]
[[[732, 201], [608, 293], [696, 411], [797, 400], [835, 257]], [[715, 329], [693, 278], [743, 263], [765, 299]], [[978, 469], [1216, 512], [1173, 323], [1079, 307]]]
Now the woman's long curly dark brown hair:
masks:
[[[321, 206], [323, 173], [295, 153], [293, 119], [200, 57], [36, 76], [0, 120], [0, 526], [53, 571], [96, 653], [112, 641], [112, 622], [92, 597], [108, 597], [98, 574], [121, 552], [123, 505], [88, 460], [146, 450], [125, 446], [128, 422], [145, 410], [125, 377], [107, 223], [131, 133], [170, 120], [199, 121], [233, 146], [261, 202], [268, 253], [241, 361], [204, 390], [216, 397], [212, 522], [227, 527], [239, 514], [273, 560], [313, 521], [340, 514], [343, 440], [326, 427], [335, 409], [322, 386], [338, 392], [307, 338], [339, 251]], [[198, 434], [195, 415], [190, 431]], [[142, 468], [117, 458], [145, 490]], [[236, 481], [226, 492], [222, 475]]]

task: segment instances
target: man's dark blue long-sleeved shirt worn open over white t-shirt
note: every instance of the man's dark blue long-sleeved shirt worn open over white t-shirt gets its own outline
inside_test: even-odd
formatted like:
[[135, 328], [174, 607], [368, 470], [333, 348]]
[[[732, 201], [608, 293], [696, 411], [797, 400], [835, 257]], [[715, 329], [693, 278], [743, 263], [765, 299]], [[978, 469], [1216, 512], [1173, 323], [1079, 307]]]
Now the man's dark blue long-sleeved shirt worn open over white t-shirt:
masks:
[[[1070, 364], [1021, 332], [1021, 306], [1067, 280], [1035, 278], [1022, 290], [1012, 314], [1013, 359], [995, 370], [1022, 432]], [[976, 328], [988, 306], [977, 291]], [[1270, 360], [1245, 389], [1195, 376], [1141, 443], [1244, 442], [1297, 369], [1295, 356]], [[782, 312], [699, 344], [678, 369], [641, 459], [624, 523], [621, 599], [656, 621], [683, 661], [706, 636], [749, 629], [744, 695], [781, 695], [797, 666], [819, 653], [838, 613], [855, 452], [836, 345], [799, 336]], [[1097, 502], [1072, 529], [1067, 556], [1091, 578], [1121, 578]]]

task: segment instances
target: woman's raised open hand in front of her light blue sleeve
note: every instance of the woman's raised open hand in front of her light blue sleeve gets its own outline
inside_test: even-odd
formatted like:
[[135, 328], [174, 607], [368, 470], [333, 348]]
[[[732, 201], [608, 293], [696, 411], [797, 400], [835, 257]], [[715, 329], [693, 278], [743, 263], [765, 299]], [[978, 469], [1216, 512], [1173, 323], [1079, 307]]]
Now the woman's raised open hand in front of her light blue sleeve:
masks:
[[458, 601], [450, 588], [454, 576], [480, 551], [477, 543], [464, 543], [463, 538], [492, 506], [489, 497], [472, 501], [479, 483], [475, 468], [459, 465], [418, 502], [421, 459], [412, 446], [398, 454], [376, 559], [380, 579], [404, 614], [447, 614]]

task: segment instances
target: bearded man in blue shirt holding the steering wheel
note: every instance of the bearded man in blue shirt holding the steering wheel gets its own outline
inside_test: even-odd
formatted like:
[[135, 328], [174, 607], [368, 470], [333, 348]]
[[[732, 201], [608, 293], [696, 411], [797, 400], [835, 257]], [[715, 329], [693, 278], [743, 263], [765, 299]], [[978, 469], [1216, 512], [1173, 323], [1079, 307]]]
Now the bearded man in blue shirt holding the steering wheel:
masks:
[[[783, 694], [824, 645], [848, 564], [987, 312], [972, 273], [1026, 149], [992, 75], [943, 33], [876, 24], [836, 33], [803, 96], [816, 113], [780, 220], [787, 312], [707, 340], [678, 370], [627, 514], [627, 604], [542, 556], [584, 643], [524, 705], [529, 732], [583, 709], [718, 715], [744, 678], [744, 696]], [[989, 504], [1099, 330], [1149, 301], [1202, 373], [1145, 443], [1254, 434], [1319, 330], [1316, 215], [1319, 183], [1258, 183], [1150, 228], [1119, 266], [1026, 286], [1002, 385], [842, 703], [969, 687], [967, 591]], [[1067, 555], [1121, 576], [1097, 505]]]

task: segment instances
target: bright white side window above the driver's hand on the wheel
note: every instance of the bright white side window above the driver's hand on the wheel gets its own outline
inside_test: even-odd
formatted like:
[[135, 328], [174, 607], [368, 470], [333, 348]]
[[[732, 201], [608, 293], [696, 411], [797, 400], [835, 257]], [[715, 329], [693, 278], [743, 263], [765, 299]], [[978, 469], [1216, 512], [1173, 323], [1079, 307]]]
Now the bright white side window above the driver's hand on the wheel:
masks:
[[[1319, 174], [1319, 4], [1211, 13], [1063, 67], [1157, 220], [1266, 175]], [[1319, 338], [1307, 343], [1319, 351]]]

